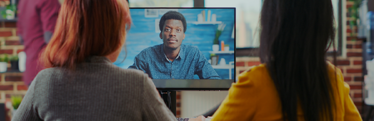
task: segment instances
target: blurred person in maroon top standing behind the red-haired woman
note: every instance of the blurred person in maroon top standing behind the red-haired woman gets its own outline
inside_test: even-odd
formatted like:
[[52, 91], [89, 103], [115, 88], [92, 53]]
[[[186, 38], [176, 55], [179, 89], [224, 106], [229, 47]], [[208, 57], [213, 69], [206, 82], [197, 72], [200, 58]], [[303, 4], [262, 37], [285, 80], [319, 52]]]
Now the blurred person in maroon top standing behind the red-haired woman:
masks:
[[26, 85], [43, 69], [39, 55], [52, 37], [60, 7], [59, 0], [19, 0], [17, 31], [26, 53]]

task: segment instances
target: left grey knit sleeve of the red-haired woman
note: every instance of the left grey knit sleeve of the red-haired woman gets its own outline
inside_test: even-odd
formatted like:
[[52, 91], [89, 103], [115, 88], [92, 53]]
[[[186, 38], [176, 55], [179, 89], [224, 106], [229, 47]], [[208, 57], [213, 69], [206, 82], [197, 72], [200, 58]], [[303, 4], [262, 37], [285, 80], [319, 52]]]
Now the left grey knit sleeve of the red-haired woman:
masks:
[[35, 94], [34, 93], [35, 83], [36, 83], [36, 80], [34, 79], [31, 82], [29, 90], [26, 92], [26, 95], [23, 98], [21, 104], [19, 105], [12, 121], [42, 121], [39, 118], [38, 113], [34, 108], [33, 100], [34, 100], [34, 94]]

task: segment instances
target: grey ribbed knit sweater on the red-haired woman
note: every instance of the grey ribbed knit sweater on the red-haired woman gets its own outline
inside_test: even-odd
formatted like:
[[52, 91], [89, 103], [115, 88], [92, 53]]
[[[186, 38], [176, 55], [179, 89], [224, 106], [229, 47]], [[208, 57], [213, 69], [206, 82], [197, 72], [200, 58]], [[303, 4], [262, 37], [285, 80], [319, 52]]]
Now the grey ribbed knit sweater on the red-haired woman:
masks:
[[12, 121], [176, 121], [143, 72], [90, 57], [68, 71], [48, 68], [32, 81]]

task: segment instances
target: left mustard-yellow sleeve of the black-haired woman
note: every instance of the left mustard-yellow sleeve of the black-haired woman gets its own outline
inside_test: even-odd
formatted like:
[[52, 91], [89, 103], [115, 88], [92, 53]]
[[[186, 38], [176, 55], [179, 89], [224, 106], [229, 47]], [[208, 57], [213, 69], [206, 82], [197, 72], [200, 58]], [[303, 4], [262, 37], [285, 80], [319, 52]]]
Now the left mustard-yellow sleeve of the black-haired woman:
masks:
[[257, 103], [258, 90], [253, 80], [248, 78], [247, 71], [238, 76], [238, 82], [233, 83], [229, 94], [223, 100], [211, 121], [252, 121]]

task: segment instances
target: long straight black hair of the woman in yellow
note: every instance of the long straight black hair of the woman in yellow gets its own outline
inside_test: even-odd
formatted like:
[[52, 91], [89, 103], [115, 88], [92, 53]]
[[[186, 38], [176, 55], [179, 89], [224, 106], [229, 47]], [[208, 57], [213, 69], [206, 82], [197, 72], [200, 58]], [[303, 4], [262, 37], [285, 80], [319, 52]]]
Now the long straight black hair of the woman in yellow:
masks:
[[[280, 96], [284, 121], [333, 121], [333, 90], [326, 53], [333, 46], [331, 0], [264, 0], [260, 18], [260, 59]], [[334, 62], [335, 63], [335, 62]]]

